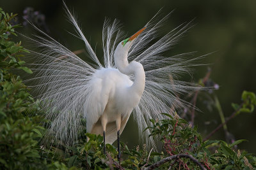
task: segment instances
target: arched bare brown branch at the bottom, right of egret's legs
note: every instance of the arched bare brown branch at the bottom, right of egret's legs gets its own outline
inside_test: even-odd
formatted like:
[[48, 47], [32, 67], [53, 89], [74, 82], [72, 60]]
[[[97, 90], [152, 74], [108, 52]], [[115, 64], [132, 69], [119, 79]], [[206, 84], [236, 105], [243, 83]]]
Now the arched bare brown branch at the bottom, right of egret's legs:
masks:
[[156, 162], [156, 164], [153, 164], [152, 166], [148, 166], [144, 170], [155, 169], [155, 168], [163, 165], [164, 163], [169, 162], [170, 160], [179, 159], [179, 158], [182, 158], [182, 157], [191, 159], [193, 162], [195, 162], [195, 164], [197, 164], [200, 167], [200, 169], [206, 170], [205, 167], [202, 166], [202, 164], [200, 164], [200, 162], [197, 159], [195, 159], [193, 156], [185, 154], [185, 153], [181, 153], [181, 154], [178, 154], [178, 155], [172, 155], [170, 157], [166, 157], [166, 158], [160, 160], [159, 162]]

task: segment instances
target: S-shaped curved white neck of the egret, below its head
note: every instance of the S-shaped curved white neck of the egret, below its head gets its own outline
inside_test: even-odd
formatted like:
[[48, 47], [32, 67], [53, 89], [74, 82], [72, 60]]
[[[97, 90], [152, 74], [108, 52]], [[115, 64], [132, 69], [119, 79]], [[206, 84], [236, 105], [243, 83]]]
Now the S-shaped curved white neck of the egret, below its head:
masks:
[[132, 61], [130, 64], [127, 60], [127, 53], [115, 53], [115, 65], [116, 68], [123, 74], [134, 74], [134, 82], [129, 89], [131, 92], [136, 92], [140, 97], [145, 89], [145, 71], [143, 66], [136, 61]]

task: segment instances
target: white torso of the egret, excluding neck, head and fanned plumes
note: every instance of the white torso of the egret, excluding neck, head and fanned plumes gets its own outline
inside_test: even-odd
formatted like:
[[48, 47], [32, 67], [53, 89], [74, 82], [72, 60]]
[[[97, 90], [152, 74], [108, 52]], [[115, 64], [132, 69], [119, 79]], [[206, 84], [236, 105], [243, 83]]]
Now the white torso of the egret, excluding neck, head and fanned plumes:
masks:
[[86, 130], [93, 134], [103, 134], [105, 129], [106, 143], [112, 144], [116, 141], [116, 132], [120, 130], [121, 134], [124, 130], [142, 94], [132, 92], [133, 82], [129, 76], [114, 68], [98, 70], [90, 83], [93, 87], [93, 107], [88, 110], [92, 115], [86, 117]]

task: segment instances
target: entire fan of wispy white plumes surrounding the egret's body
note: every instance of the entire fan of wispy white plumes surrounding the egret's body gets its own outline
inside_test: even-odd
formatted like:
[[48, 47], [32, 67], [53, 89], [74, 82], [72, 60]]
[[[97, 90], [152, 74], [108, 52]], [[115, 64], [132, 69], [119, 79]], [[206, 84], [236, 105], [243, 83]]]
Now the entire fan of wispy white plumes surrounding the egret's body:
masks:
[[[76, 18], [70, 13], [65, 5], [68, 19], [76, 28], [77, 35], [84, 41], [86, 53], [93, 60], [93, 64], [85, 62], [72, 53], [68, 48], [52, 39], [50, 36], [36, 28], [43, 36], [35, 36], [31, 41], [40, 48], [40, 52], [31, 51], [34, 62], [34, 78], [26, 80], [31, 89], [38, 94], [43, 108], [48, 110], [46, 117], [51, 120], [48, 136], [54, 136], [65, 145], [72, 145], [79, 138], [81, 118], [86, 118], [86, 108], [89, 105], [91, 85], [88, 83], [95, 71], [102, 67], [115, 68], [114, 52], [118, 43], [125, 39], [124, 32], [120, 29], [117, 20], [111, 23], [106, 20], [103, 25], [102, 42], [104, 51], [104, 64], [100, 64], [92, 47], [79, 28]], [[132, 113], [134, 120], [138, 123], [141, 137], [147, 137], [149, 130], [143, 132], [150, 119], [161, 120], [161, 113], [173, 115], [175, 110], [189, 106], [189, 103], [177, 97], [178, 94], [188, 94], [200, 89], [193, 83], [177, 80], [180, 74], [190, 73], [189, 67], [195, 66], [193, 61], [200, 59], [186, 59], [184, 53], [171, 57], [164, 57], [163, 52], [170, 50], [180, 37], [189, 29], [188, 24], [168, 32], [158, 38], [159, 29], [168, 19], [170, 13], [160, 18], [158, 12], [146, 25], [129, 50], [128, 60], [140, 62], [145, 69], [145, 90], [140, 104], [134, 108]], [[160, 19], [158, 19], [160, 18]], [[131, 76], [131, 80], [133, 77]], [[51, 110], [49, 110], [51, 108]], [[146, 139], [148, 145], [154, 145], [154, 141]]]

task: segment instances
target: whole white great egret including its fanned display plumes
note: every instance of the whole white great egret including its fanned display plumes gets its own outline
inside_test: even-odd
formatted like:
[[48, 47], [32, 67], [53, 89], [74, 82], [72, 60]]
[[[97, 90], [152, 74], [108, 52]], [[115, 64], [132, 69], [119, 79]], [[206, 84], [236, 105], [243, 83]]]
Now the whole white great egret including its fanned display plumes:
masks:
[[[111, 144], [116, 136], [119, 138], [132, 111], [140, 135], [148, 136], [148, 129], [142, 132], [151, 118], [161, 120], [164, 117], [161, 113], [173, 114], [173, 108], [183, 108], [188, 103], [178, 99], [177, 94], [200, 88], [177, 80], [180, 74], [189, 73], [188, 67], [198, 58], [186, 59], [189, 53], [171, 57], [162, 55], [189, 29], [189, 23], [157, 39], [159, 27], [170, 15], [157, 20], [160, 15], [157, 13], [143, 29], [125, 39], [117, 20], [113, 24], [106, 20], [102, 32], [102, 66], [76, 19], [68, 8], [66, 11], [79, 38], [84, 41], [91, 62], [80, 59], [36, 28], [44, 37], [31, 39], [41, 51], [31, 51], [34, 63], [30, 65], [35, 66], [35, 77], [27, 81], [35, 83], [30, 87], [48, 110], [45, 115], [51, 119], [48, 136], [72, 145], [79, 138], [81, 118], [86, 118], [87, 132], [102, 134], [106, 143]], [[148, 145], [154, 146], [152, 138], [150, 141], [145, 139]]]

